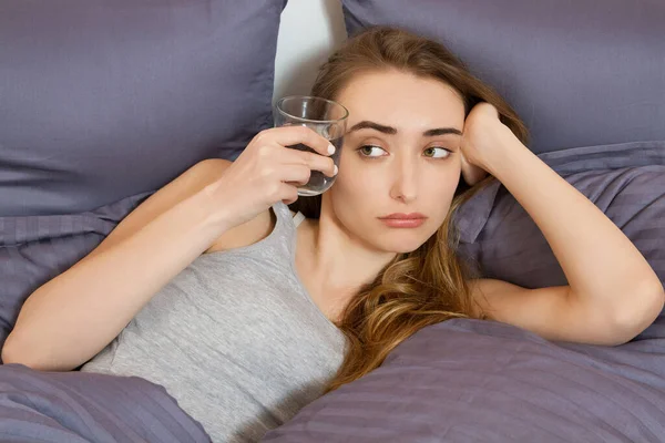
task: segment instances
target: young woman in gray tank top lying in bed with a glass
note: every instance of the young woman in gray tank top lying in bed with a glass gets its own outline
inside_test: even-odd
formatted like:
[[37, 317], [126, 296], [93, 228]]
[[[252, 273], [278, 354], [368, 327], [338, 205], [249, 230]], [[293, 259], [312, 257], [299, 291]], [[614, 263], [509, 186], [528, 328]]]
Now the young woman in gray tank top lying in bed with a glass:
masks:
[[[294, 206], [308, 218], [298, 225], [286, 204], [310, 171], [337, 173], [328, 142], [264, 131], [236, 162], [202, 162], [155, 193], [39, 288], [4, 362], [143, 377], [215, 441], [254, 441], [428, 324], [484, 318], [612, 346], [663, 308], [637, 249], [439, 43], [369, 30], [329, 59], [313, 94], [350, 116], [335, 185]], [[320, 155], [285, 147], [296, 143]], [[533, 217], [570, 286], [464, 275], [451, 214], [460, 177], [477, 185], [488, 173]]]

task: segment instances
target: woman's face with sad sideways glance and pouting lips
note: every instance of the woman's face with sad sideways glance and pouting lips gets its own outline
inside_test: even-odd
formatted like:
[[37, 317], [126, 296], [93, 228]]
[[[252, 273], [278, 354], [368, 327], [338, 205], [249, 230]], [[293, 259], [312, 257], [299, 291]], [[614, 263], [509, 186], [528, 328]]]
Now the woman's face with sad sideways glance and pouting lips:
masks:
[[388, 71], [358, 74], [336, 100], [349, 121], [324, 210], [372, 249], [419, 248], [460, 181], [462, 99], [440, 81]]

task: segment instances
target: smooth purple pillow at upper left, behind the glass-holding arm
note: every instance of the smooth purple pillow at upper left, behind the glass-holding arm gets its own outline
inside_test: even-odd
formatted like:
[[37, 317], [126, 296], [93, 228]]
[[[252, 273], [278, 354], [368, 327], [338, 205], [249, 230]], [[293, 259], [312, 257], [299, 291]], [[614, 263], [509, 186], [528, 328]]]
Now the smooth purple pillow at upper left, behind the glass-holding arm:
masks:
[[0, 2], [0, 217], [72, 214], [272, 125], [286, 0]]

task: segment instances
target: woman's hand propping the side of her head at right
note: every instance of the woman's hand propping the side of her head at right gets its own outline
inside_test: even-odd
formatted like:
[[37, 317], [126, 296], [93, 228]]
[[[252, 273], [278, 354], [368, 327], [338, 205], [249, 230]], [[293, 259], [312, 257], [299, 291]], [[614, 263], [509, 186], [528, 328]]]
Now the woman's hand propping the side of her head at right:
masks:
[[492, 155], [501, 151], [501, 138], [511, 135], [514, 137], [512, 131], [499, 120], [497, 107], [485, 102], [473, 106], [464, 122], [460, 145], [462, 176], [467, 184], [473, 186], [491, 173]]

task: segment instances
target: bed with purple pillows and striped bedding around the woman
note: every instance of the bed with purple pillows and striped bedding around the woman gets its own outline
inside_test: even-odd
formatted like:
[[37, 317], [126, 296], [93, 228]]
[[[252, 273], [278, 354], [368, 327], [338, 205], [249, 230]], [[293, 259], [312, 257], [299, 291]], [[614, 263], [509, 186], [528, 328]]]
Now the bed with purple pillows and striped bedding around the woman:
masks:
[[[665, 281], [664, 22], [654, 0], [2, 1], [0, 343], [35, 288], [194, 163], [235, 158], [270, 126], [275, 99], [306, 93], [347, 32], [375, 24], [446, 42]], [[565, 284], [500, 184], [457, 225], [479, 272]], [[209, 437], [149, 381], [8, 364], [0, 441]], [[665, 313], [615, 348], [436, 324], [264, 441], [665, 442]]]

